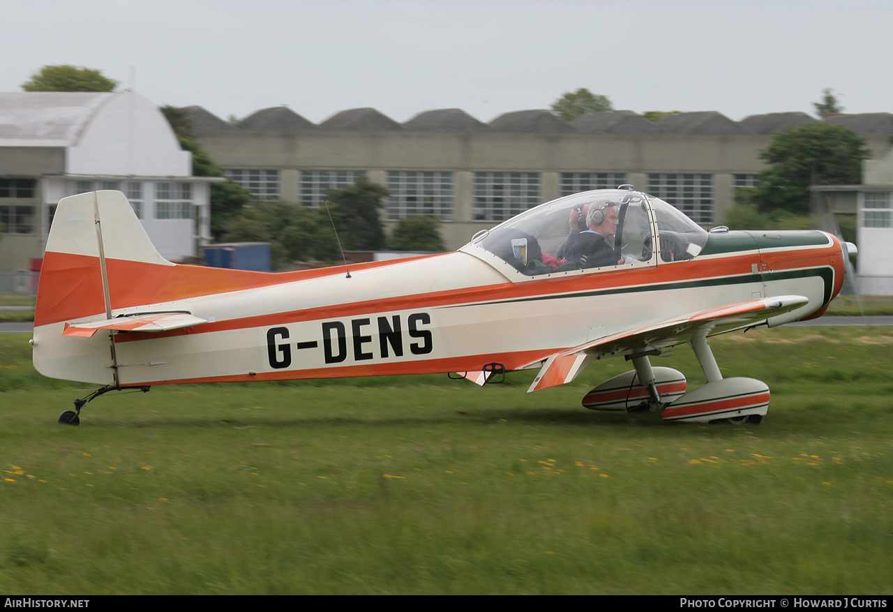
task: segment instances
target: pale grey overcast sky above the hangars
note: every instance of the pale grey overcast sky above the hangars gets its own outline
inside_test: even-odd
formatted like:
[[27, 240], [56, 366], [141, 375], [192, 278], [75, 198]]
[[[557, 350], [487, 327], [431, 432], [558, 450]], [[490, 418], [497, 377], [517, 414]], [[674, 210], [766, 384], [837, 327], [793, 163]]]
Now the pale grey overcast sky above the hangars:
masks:
[[0, 0], [0, 91], [46, 64], [227, 119], [489, 122], [588, 88], [615, 109], [893, 112], [889, 0]]

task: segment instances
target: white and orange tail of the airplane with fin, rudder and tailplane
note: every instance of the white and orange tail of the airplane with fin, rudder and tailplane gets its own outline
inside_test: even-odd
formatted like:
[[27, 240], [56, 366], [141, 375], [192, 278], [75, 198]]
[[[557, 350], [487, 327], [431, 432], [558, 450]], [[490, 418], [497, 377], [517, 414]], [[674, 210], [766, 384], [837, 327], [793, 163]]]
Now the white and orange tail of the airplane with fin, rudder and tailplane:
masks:
[[[116, 331], [204, 323], [188, 314], [189, 298], [262, 287], [275, 277], [172, 264], [155, 249], [121, 192], [66, 197], [56, 208], [40, 271], [34, 365], [53, 378], [118, 388], [127, 381], [119, 376]], [[125, 310], [133, 318], [121, 318]], [[159, 320], [158, 311], [165, 310], [176, 316]], [[142, 314], [153, 316], [136, 318]], [[68, 333], [66, 323], [72, 323]]]

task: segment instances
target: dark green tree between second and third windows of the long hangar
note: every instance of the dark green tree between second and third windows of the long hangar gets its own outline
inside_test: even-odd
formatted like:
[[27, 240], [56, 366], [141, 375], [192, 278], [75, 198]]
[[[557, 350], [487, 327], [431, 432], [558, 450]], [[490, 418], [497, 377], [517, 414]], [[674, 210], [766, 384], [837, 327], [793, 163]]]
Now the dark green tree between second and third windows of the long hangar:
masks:
[[376, 251], [384, 246], [379, 215], [384, 206], [381, 200], [387, 196], [388, 189], [364, 176], [350, 187], [329, 190], [329, 210], [345, 250]]

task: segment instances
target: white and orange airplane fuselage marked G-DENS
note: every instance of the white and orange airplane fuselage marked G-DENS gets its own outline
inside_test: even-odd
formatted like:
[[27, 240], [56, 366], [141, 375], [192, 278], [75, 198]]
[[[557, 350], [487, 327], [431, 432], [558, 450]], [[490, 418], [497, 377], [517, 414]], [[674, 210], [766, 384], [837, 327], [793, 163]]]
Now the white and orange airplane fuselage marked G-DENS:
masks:
[[[108, 262], [110, 270], [127, 264]], [[470, 245], [461, 252], [352, 266], [349, 278], [343, 266], [257, 274], [248, 289], [201, 295], [203, 289], [194, 287], [190, 296], [183, 286], [177, 289], [181, 297], [159, 301], [152, 298], [171, 292], [161, 288], [186, 284], [180, 281], [184, 266], [165, 266], [151, 284], [131, 285], [128, 302], [113, 299], [113, 316], [136, 309], [187, 312], [208, 323], [113, 333], [114, 359], [121, 386], [472, 372], [488, 364], [512, 371], [583, 341], [752, 298], [809, 298], [808, 305], [769, 323], [795, 321], [827, 305], [839, 289], [841, 265], [839, 245], [822, 232], [712, 234], [704, 250], [686, 261], [652, 257], [538, 276]], [[230, 272], [199, 271], [221, 277]], [[112, 384], [108, 333], [64, 337], [63, 325], [35, 330], [41, 372]]]

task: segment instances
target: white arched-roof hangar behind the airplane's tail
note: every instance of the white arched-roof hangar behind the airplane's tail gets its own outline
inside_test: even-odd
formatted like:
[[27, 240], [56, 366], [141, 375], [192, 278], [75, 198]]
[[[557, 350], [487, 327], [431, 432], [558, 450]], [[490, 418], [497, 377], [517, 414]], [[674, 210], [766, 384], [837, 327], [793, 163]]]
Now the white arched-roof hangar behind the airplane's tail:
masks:
[[208, 182], [132, 91], [0, 93], [0, 272], [28, 270], [59, 200], [96, 189], [127, 194], [163, 256], [195, 256], [210, 239]]

